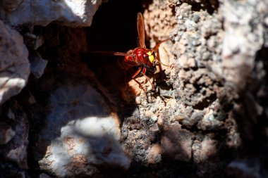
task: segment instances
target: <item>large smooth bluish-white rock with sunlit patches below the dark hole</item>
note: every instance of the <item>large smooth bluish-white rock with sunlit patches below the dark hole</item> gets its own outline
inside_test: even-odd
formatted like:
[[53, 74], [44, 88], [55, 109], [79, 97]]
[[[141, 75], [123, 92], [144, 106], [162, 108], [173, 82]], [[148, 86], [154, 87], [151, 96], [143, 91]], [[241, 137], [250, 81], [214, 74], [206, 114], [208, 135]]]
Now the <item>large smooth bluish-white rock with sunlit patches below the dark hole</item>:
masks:
[[97, 167], [128, 169], [130, 158], [118, 141], [118, 117], [90, 84], [63, 85], [50, 102], [35, 154], [42, 170], [77, 177], [96, 176]]

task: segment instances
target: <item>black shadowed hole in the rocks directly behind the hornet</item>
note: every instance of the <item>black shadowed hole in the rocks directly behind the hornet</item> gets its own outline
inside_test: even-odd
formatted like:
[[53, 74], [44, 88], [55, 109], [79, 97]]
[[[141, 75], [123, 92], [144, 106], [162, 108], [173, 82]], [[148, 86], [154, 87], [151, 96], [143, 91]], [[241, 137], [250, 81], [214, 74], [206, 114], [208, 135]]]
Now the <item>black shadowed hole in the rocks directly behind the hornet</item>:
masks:
[[[89, 51], [126, 53], [138, 47], [137, 14], [143, 13], [146, 6], [139, 0], [114, 0], [102, 4], [87, 28]], [[118, 56], [86, 53], [82, 58], [99, 82], [112, 93], [126, 84], [138, 69], [123, 70], [118, 65]]]

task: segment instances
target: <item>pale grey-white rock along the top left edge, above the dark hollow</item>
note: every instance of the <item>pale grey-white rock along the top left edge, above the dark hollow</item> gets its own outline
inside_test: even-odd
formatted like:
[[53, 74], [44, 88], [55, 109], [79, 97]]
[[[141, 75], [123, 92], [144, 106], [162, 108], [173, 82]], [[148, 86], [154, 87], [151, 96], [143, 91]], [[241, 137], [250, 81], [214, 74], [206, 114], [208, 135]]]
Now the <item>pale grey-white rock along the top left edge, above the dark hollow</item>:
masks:
[[[51, 1], [16, 0], [1, 1], [0, 18], [13, 26], [41, 25], [57, 21], [71, 27], [88, 27], [101, 0]], [[6, 11], [6, 12], [5, 12]]]

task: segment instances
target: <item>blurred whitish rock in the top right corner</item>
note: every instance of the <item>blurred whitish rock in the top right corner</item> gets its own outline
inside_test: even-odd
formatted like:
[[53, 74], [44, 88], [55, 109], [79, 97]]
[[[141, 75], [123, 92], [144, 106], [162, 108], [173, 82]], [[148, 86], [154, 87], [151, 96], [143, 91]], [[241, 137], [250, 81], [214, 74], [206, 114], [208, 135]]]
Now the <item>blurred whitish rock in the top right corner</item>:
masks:
[[268, 15], [268, 4], [260, 0], [247, 3], [224, 1], [222, 11], [226, 29], [221, 55], [223, 77], [239, 91], [245, 87], [254, 68], [255, 55], [264, 44], [267, 27], [262, 22]]

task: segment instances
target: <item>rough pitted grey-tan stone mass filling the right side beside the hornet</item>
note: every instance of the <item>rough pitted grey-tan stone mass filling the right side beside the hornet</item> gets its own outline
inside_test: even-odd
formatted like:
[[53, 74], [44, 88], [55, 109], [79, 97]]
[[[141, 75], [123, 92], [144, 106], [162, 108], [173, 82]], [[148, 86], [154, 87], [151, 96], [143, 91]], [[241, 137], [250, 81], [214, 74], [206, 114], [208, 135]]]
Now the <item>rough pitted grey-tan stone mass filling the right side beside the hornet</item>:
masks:
[[[263, 106], [262, 100], [267, 97], [267, 92], [263, 88], [258, 89], [260, 86], [267, 86], [267, 82], [264, 82], [267, 79], [267, 63], [264, 62], [267, 49], [263, 49], [266, 45], [264, 37], [267, 35], [263, 31], [267, 4], [264, 1], [247, 1], [245, 4], [233, 1], [169, 2], [171, 6], [167, 7], [165, 1], [153, 1], [144, 16], [150, 47], [168, 36], [169, 27], [173, 29], [171, 37], [174, 44], [166, 42], [159, 48], [161, 60], [169, 58], [162, 62], [173, 63], [173, 68], [162, 66], [164, 72], [152, 77], [154, 80], [151, 79], [151, 82], [157, 83], [159, 87], [156, 95], [148, 92], [150, 85], [144, 77], [137, 80], [145, 91], [137, 84], [128, 82], [130, 91], [135, 92], [131, 93], [132, 96], [123, 92], [123, 98], [128, 103], [131, 99], [135, 100], [139, 112], [133, 113], [132, 122], [128, 122], [129, 117], [124, 122], [135, 125], [138, 136], [150, 133], [150, 129], [147, 131], [146, 127], [154, 127], [150, 121], [156, 115], [159, 129], [155, 129], [157, 132], [153, 135], [161, 138], [158, 143], [162, 147], [162, 163], [166, 163], [165, 160], [186, 163], [193, 161], [197, 165], [195, 176], [222, 176], [219, 170], [224, 170], [226, 163], [236, 157], [233, 151], [245, 148], [243, 138], [246, 138], [246, 142], [255, 140], [250, 135], [257, 134], [257, 118], [262, 117], [264, 108], [267, 107]], [[175, 6], [176, 23], [173, 23], [172, 6]], [[258, 10], [253, 11], [255, 8]], [[247, 9], [249, 13], [245, 15]], [[236, 69], [233, 70], [234, 68]], [[243, 74], [240, 75], [238, 71], [243, 71]], [[255, 82], [249, 82], [247, 77]], [[252, 83], [255, 86], [250, 86], [249, 92], [237, 92], [247, 90], [245, 86]], [[260, 95], [256, 96], [256, 92]], [[236, 98], [244, 97], [245, 101], [236, 101]], [[250, 113], [250, 120], [246, 113]], [[240, 133], [239, 123], [243, 123], [242, 128], [246, 127], [251, 134]], [[129, 131], [130, 128], [132, 127], [128, 126], [124, 129], [123, 133], [128, 133], [124, 138], [128, 145], [135, 145], [135, 136], [129, 136], [132, 132]], [[182, 130], [188, 133], [184, 139], [181, 139]], [[147, 147], [152, 148], [152, 143], [146, 142], [144, 145], [140, 151], [136, 147], [131, 150], [142, 152], [142, 158], [146, 158], [145, 155], [152, 154], [150, 149], [146, 150]], [[266, 144], [261, 145], [267, 148]], [[138, 158], [138, 155], [133, 157]], [[147, 160], [140, 162], [148, 163]]]

